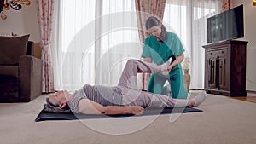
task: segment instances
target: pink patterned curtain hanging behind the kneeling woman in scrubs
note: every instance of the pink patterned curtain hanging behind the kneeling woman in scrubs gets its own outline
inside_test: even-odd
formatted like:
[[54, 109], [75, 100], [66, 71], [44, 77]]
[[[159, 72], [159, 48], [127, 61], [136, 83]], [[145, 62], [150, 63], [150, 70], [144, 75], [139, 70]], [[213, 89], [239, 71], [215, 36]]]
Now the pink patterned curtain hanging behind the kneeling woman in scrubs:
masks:
[[[137, 11], [137, 26], [138, 33], [141, 43], [144, 43], [148, 33], [145, 31], [145, 22], [149, 16], [156, 16], [159, 20], [163, 19], [166, 0], [136, 0], [136, 11]], [[144, 73], [142, 78], [142, 84], [144, 90], [148, 88], [148, 81], [150, 73]]]

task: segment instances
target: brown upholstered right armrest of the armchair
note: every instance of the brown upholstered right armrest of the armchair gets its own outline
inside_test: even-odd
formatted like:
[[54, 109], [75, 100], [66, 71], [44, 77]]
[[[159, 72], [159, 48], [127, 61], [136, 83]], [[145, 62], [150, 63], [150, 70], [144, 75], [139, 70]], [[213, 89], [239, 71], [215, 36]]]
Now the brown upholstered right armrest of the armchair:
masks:
[[20, 101], [32, 101], [42, 94], [43, 62], [32, 55], [20, 56]]

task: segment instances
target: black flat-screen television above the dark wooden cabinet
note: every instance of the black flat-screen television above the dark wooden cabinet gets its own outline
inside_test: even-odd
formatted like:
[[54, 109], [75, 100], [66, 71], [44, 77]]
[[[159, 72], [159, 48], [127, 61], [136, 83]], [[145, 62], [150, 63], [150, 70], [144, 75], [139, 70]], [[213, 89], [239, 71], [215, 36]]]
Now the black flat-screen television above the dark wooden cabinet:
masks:
[[243, 5], [207, 18], [207, 43], [244, 37]]

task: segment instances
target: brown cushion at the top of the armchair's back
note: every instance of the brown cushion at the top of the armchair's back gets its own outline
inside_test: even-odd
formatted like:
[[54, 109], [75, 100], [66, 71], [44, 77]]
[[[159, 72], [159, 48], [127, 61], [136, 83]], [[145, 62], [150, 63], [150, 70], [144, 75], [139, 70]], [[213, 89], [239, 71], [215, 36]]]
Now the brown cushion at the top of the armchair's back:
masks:
[[0, 65], [18, 64], [20, 56], [26, 55], [28, 37], [0, 37]]

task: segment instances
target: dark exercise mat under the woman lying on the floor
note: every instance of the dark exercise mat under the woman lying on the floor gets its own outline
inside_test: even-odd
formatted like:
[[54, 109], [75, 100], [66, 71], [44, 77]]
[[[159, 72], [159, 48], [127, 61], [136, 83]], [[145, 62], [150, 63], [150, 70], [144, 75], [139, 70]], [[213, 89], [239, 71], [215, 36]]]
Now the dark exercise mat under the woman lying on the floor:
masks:
[[[187, 112], [203, 112], [200, 109], [193, 107], [176, 107], [176, 108], [145, 108], [143, 115], [157, 115], [157, 114], [172, 114], [172, 113], [187, 113]], [[91, 118], [120, 118], [120, 117], [131, 117], [131, 114], [125, 115], [104, 115], [104, 114], [76, 114], [73, 112], [66, 113], [55, 113], [55, 112], [46, 112], [44, 109], [38, 114], [38, 117], [35, 119], [36, 122], [45, 121], [45, 120], [74, 120], [74, 119], [91, 119]], [[136, 117], [141, 117], [136, 116]]]

